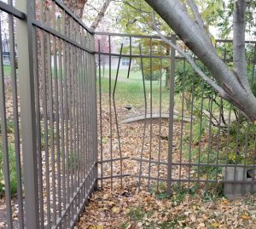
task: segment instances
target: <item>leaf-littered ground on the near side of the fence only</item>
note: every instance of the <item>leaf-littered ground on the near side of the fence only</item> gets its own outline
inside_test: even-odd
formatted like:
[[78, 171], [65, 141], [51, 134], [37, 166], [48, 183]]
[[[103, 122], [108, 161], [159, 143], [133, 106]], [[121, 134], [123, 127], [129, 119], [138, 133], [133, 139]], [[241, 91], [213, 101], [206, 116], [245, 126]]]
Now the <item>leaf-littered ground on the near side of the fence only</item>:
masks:
[[255, 228], [256, 196], [236, 200], [105, 188], [90, 198], [77, 228]]

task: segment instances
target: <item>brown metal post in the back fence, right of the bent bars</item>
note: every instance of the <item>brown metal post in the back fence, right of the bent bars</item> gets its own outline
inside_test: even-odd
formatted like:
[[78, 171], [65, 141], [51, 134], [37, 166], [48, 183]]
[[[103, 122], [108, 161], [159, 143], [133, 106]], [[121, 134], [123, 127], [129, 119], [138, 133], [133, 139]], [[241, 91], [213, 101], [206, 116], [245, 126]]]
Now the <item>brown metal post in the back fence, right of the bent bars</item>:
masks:
[[[176, 35], [172, 35], [172, 43], [176, 43]], [[168, 134], [168, 168], [167, 168], [167, 192], [172, 194], [172, 138], [173, 138], [173, 109], [174, 109], [174, 79], [175, 79], [175, 49], [171, 49], [171, 73], [170, 73], [170, 105], [169, 105], [169, 134]]]

